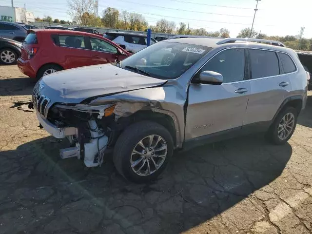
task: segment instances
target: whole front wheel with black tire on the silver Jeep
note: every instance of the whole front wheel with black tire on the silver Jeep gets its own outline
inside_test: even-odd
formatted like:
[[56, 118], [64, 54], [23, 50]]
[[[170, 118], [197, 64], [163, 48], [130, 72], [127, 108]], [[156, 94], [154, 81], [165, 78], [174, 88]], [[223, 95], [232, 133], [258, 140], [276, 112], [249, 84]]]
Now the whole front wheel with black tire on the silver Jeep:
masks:
[[117, 139], [114, 164], [126, 179], [147, 182], [165, 170], [173, 148], [173, 139], [165, 127], [152, 121], [137, 122]]

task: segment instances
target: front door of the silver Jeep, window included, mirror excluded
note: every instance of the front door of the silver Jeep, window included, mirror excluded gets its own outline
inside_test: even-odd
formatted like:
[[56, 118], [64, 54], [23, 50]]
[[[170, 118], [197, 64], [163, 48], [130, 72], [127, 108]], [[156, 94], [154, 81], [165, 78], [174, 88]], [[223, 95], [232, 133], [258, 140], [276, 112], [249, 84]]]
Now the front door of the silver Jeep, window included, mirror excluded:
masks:
[[185, 140], [241, 128], [250, 94], [246, 53], [243, 48], [223, 50], [197, 72], [194, 78], [203, 71], [220, 73], [223, 83], [190, 84]]

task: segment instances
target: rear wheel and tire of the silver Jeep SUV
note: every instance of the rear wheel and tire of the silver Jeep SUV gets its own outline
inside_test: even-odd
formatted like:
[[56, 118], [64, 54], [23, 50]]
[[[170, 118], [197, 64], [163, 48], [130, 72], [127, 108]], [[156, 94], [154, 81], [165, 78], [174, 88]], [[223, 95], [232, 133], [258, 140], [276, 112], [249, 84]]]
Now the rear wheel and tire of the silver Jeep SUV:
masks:
[[285, 144], [292, 137], [296, 128], [297, 116], [295, 108], [289, 106], [283, 109], [267, 132], [268, 140], [275, 145]]

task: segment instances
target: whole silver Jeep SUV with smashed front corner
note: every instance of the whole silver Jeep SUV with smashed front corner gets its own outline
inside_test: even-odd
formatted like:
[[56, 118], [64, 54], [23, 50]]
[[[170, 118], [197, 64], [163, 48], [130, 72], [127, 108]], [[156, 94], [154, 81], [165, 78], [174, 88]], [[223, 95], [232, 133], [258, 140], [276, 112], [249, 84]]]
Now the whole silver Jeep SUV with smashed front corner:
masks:
[[242, 40], [169, 39], [121, 62], [54, 73], [36, 84], [30, 108], [69, 139], [62, 158], [94, 167], [114, 149], [117, 171], [135, 182], [155, 179], [175, 149], [255, 131], [284, 144], [309, 75], [280, 42]]

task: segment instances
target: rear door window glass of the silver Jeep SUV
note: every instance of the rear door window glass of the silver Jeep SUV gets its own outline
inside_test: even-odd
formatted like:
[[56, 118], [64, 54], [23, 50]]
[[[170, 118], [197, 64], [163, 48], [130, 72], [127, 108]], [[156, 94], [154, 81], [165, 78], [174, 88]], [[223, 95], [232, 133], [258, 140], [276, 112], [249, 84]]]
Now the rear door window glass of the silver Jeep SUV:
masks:
[[253, 79], [279, 75], [279, 63], [275, 52], [251, 49], [249, 53]]

